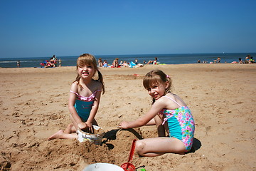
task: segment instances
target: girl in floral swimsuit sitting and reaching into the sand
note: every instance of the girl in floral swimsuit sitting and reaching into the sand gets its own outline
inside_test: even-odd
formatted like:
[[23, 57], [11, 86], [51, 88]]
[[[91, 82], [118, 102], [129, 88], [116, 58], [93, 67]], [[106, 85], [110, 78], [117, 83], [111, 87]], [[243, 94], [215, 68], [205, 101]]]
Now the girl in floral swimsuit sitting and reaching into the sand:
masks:
[[[123, 121], [118, 128], [139, 128], [156, 125], [159, 138], [137, 140], [136, 152], [145, 157], [164, 153], [184, 154], [191, 150], [195, 123], [191, 110], [176, 94], [171, 93], [171, 78], [163, 71], [154, 70], [146, 74], [143, 86], [151, 96], [152, 107], [146, 115], [134, 121]], [[169, 137], [166, 137], [166, 132]]]

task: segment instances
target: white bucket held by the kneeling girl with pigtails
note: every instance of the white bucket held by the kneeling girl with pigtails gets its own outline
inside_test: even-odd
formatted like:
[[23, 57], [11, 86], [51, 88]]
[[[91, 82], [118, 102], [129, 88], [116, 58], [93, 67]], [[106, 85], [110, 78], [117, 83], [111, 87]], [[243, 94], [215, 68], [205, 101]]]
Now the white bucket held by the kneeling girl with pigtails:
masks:
[[86, 133], [78, 128], [77, 133], [78, 133], [78, 141], [79, 142], [84, 142], [84, 141], [90, 141], [93, 142], [97, 145], [100, 145], [102, 142], [102, 138], [105, 135], [105, 132], [102, 130], [102, 128], [92, 125], [93, 129], [95, 130], [95, 134], [92, 133]]

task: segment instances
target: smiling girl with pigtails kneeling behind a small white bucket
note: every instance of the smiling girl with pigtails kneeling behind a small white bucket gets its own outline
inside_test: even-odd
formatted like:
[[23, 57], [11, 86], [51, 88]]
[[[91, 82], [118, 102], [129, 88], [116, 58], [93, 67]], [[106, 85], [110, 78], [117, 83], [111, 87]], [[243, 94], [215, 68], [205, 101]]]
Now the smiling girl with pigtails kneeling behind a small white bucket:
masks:
[[[55, 138], [78, 138], [76, 131], [89, 130], [93, 133], [92, 125], [97, 125], [95, 115], [100, 104], [100, 95], [105, 93], [102, 73], [97, 69], [97, 61], [94, 56], [85, 53], [77, 61], [78, 76], [72, 83], [68, 99], [68, 109], [72, 123], [63, 131], [51, 135], [48, 140]], [[97, 72], [97, 80], [92, 77]]]

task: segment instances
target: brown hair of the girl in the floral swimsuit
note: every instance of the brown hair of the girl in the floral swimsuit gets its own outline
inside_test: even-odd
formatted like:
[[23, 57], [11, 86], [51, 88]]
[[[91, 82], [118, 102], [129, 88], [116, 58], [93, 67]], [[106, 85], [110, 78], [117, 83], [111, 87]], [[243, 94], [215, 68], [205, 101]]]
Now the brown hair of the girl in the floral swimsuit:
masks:
[[[150, 71], [149, 73], [146, 73], [146, 76], [143, 79], [143, 86], [145, 89], [151, 88], [152, 85], [154, 84], [159, 84], [159, 83], [166, 83], [166, 81], [169, 82], [168, 87], [165, 90], [164, 95], [169, 93], [171, 91], [171, 77], [169, 75], [166, 75], [163, 71], [161, 70], [153, 70]], [[153, 98], [153, 103], [155, 102]]]

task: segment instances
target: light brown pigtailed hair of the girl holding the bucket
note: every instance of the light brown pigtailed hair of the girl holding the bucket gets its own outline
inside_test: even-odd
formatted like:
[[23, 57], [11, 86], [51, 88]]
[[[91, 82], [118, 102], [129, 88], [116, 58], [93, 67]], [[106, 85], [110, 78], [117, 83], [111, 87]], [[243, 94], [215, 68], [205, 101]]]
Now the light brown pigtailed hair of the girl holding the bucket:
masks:
[[[95, 71], [97, 71], [98, 78], [96, 79], [96, 81], [99, 81], [100, 83], [102, 83], [102, 94], [104, 94], [105, 93], [105, 86], [104, 86], [104, 82], [103, 82], [103, 76], [102, 76], [102, 73], [100, 73], [99, 69], [97, 68], [97, 61], [96, 61], [95, 56], [92, 56], [89, 53], [84, 53], [84, 54], [80, 55], [78, 57], [78, 60], [77, 60], [77, 70], [78, 70], [79, 67], [83, 67], [85, 65], [92, 65], [95, 68]], [[80, 81], [79, 74], [75, 78], [75, 81], [78, 81], [78, 85], [80, 86], [80, 84], [79, 84], [79, 81]]]

